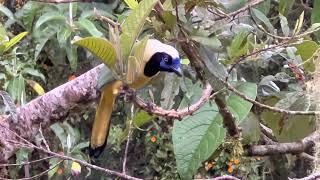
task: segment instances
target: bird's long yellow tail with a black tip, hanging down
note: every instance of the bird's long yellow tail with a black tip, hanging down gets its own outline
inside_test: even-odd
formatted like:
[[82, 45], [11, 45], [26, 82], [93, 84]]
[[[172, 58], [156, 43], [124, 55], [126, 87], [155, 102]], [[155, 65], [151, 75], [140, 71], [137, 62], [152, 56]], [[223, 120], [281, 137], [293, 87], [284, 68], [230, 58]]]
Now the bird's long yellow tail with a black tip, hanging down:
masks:
[[107, 84], [102, 91], [91, 132], [90, 156], [98, 157], [107, 144], [113, 105], [121, 86], [121, 81], [115, 81]]

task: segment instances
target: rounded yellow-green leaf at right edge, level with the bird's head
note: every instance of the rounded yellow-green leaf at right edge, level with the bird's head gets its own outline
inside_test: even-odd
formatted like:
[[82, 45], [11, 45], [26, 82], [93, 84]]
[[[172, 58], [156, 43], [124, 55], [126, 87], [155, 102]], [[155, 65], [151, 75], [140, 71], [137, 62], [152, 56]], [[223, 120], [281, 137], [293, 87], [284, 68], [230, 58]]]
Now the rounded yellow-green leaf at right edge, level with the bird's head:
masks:
[[295, 47], [297, 48], [296, 54], [301, 56], [305, 70], [314, 72], [314, 58], [316, 58], [314, 55], [316, 55], [319, 45], [314, 41], [305, 40], [302, 43], [295, 45]]

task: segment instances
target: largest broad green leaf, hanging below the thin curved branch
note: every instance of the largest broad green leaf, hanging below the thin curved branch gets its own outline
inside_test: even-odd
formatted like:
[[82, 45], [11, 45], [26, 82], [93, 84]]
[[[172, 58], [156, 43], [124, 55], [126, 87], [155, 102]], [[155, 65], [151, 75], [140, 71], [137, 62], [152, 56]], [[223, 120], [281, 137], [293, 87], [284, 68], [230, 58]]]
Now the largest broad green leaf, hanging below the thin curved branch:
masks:
[[214, 104], [206, 104], [193, 116], [175, 121], [172, 141], [182, 179], [191, 179], [201, 163], [223, 143], [226, 130]]

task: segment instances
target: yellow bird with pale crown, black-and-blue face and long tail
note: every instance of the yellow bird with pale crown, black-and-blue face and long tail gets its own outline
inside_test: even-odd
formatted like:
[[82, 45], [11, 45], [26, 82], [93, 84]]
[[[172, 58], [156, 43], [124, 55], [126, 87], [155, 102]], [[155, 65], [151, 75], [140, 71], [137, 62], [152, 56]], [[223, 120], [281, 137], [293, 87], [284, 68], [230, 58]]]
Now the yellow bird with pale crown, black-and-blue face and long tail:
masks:
[[[127, 79], [129, 79], [128, 86], [130, 88], [140, 89], [146, 86], [160, 72], [182, 76], [179, 52], [173, 46], [164, 44], [157, 39], [148, 39], [140, 54], [134, 59], [137, 62], [135, 69], [128, 67]], [[131, 60], [129, 59], [129, 62]], [[134, 60], [132, 62], [135, 62]], [[121, 80], [113, 80], [103, 86], [92, 126], [89, 145], [90, 157], [99, 157], [107, 144], [113, 106], [123, 84], [124, 82]]]

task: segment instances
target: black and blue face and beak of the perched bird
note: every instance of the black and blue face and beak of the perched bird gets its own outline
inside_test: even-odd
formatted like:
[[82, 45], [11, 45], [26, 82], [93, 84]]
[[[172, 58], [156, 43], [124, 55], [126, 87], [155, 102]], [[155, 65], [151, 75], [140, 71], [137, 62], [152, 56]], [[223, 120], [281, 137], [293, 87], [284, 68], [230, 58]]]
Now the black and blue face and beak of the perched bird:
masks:
[[174, 72], [178, 76], [182, 75], [180, 58], [173, 58], [165, 52], [157, 52], [151, 56], [150, 60], [146, 63], [144, 68], [144, 75], [152, 77], [159, 71]]

